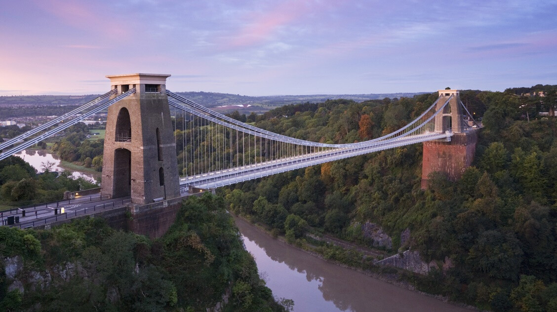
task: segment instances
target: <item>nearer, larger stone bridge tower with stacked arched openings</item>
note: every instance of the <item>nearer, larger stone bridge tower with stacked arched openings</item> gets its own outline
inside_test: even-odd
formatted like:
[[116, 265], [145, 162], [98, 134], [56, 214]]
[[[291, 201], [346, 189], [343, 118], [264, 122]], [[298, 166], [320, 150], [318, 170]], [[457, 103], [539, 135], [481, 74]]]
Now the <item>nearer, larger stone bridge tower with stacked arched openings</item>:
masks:
[[180, 196], [176, 144], [166, 79], [170, 75], [106, 76], [113, 97], [135, 93], [110, 106], [102, 160], [102, 195], [131, 196], [147, 204]]

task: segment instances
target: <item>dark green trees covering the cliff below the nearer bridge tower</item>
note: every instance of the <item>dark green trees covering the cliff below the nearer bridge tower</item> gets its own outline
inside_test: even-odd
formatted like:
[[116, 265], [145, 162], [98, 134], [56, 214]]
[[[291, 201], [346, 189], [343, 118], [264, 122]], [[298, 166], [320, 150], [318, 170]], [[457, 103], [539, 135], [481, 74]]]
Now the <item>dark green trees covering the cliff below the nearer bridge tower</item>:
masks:
[[[0, 227], [0, 257], [19, 256], [25, 293], [0, 306], [44, 311], [201, 311], [232, 296], [225, 311], [285, 311], [260, 279], [222, 198], [190, 197], [158, 240], [81, 218], [52, 230]], [[3, 270], [2, 270], [3, 272]], [[48, 276], [40, 285], [25, 276]], [[43, 280], [44, 281], [44, 280]]]

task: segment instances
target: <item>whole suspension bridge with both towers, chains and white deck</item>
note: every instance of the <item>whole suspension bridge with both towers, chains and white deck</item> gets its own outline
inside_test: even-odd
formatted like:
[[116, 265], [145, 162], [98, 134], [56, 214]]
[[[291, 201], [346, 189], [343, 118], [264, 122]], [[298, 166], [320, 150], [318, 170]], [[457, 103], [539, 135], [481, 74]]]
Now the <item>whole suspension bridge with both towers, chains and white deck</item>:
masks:
[[[365, 142], [327, 144], [272, 133], [205, 108], [167, 90], [169, 76], [107, 76], [109, 92], [0, 144], [0, 160], [106, 109], [101, 194], [131, 197], [135, 204], [416, 143], [424, 143], [425, 187], [432, 171], [459, 178], [476, 147], [479, 125], [458, 90], [439, 90], [426, 111], [393, 133]], [[463, 120], [466, 115], [474, 125]]]

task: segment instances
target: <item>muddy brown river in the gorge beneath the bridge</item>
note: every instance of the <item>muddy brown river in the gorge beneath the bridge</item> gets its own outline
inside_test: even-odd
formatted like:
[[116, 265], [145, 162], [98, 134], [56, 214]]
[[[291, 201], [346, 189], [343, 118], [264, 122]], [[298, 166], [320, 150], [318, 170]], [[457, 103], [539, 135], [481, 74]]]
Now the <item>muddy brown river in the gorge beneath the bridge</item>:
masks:
[[296, 312], [473, 311], [331, 264], [239, 218], [236, 225], [267, 287], [294, 300]]

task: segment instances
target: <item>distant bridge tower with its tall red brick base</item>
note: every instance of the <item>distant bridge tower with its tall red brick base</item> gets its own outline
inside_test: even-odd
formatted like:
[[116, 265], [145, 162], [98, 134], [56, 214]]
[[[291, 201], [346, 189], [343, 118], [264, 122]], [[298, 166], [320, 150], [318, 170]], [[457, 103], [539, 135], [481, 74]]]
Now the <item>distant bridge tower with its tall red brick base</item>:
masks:
[[435, 131], [444, 133], [452, 131], [450, 141], [434, 140], [423, 143], [422, 189], [427, 188], [428, 175], [432, 172], [447, 174], [451, 181], [460, 179], [466, 168], [470, 167], [476, 152], [478, 140], [476, 130], [467, 130], [462, 114], [462, 105], [458, 90], [439, 90], [437, 109], [451, 97], [449, 104], [437, 115]]

